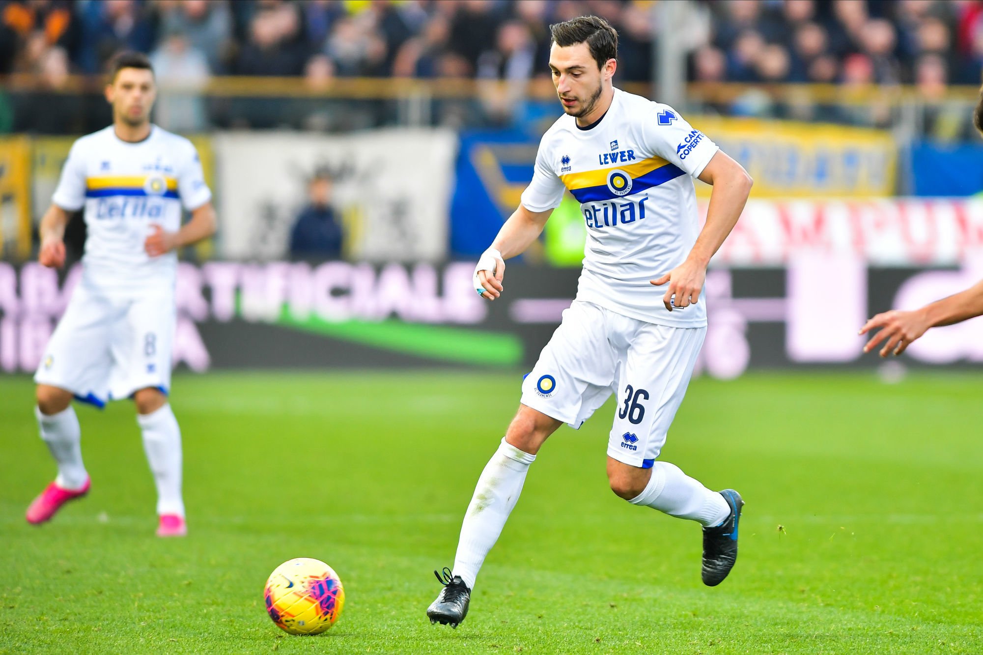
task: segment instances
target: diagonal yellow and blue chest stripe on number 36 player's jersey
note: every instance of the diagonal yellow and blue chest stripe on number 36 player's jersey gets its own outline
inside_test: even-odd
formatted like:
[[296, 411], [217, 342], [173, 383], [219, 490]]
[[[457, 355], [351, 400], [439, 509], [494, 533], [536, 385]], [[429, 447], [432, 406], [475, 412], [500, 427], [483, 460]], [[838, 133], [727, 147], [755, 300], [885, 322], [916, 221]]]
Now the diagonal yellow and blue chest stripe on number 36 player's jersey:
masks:
[[613, 168], [585, 170], [560, 175], [563, 186], [580, 204], [613, 200], [658, 187], [685, 171], [662, 157], [648, 157], [636, 163]]

